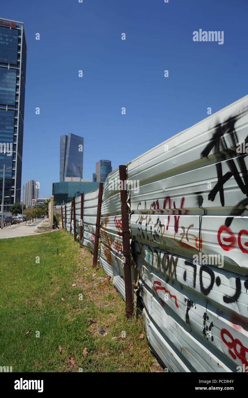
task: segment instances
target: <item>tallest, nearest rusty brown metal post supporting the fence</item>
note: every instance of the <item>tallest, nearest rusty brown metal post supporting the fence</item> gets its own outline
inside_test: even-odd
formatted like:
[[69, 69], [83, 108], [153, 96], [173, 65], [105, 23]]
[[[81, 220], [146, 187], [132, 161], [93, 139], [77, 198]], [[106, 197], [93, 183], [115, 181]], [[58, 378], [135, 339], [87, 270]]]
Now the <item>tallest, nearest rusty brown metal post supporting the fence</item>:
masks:
[[125, 279], [125, 297], [126, 297], [126, 316], [130, 318], [134, 312], [133, 295], [132, 295], [132, 275], [131, 275], [131, 249], [128, 222], [128, 191], [126, 166], [119, 166], [120, 174], [120, 201], [122, 214], [122, 244], [124, 256], [124, 279]]

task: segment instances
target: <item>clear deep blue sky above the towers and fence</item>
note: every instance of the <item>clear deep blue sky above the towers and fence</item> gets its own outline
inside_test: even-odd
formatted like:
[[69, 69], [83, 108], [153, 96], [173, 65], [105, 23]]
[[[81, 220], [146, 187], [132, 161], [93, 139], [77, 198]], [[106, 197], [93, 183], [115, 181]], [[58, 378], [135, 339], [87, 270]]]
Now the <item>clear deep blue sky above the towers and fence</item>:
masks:
[[[2, 2], [27, 39], [22, 183], [52, 194], [60, 135], [84, 137], [92, 181], [97, 160], [114, 170], [248, 94], [247, 16], [247, 0]], [[193, 42], [199, 29], [224, 31], [224, 44]]]

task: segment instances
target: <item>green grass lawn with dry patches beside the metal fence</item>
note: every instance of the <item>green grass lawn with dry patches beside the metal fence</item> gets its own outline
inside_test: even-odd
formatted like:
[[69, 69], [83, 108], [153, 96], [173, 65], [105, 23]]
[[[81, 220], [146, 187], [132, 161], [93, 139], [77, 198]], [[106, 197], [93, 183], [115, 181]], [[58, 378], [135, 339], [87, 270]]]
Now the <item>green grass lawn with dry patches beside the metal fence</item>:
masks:
[[112, 281], [101, 280], [103, 269], [90, 266], [90, 252], [72, 235], [60, 230], [1, 239], [0, 253], [0, 366], [13, 372], [163, 371], [141, 314], [126, 320]]

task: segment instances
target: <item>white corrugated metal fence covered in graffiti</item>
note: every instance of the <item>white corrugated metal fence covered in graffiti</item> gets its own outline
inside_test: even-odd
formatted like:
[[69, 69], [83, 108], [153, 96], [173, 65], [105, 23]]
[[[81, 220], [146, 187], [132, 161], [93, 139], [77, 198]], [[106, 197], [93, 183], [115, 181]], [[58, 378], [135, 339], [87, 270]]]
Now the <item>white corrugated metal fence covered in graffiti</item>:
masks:
[[[169, 371], [248, 366], [246, 143], [248, 96], [126, 164], [133, 298], [139, 287], [147, 338]], [[92, 252], [97, 198], [83, 205]], [[125, 298], [119, 170], [105, 181], [100, 238], [100, 263]]]

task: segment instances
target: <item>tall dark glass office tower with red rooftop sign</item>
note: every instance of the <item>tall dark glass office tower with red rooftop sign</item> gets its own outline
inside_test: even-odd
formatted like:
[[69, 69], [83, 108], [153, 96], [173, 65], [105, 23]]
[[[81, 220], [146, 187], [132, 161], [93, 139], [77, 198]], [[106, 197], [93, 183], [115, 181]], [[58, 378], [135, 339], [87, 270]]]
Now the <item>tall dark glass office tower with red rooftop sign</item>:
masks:
[[[21, 198], [26, 53], [22, 22], [0, 19], [0, 170], [5, 163], [4, 210]], [[0, 172], [0, 203], [3, 172]], [[9, 198], [8, 198], [9, 197]], [[6, 204], [6, 207], [5, 207]]]

